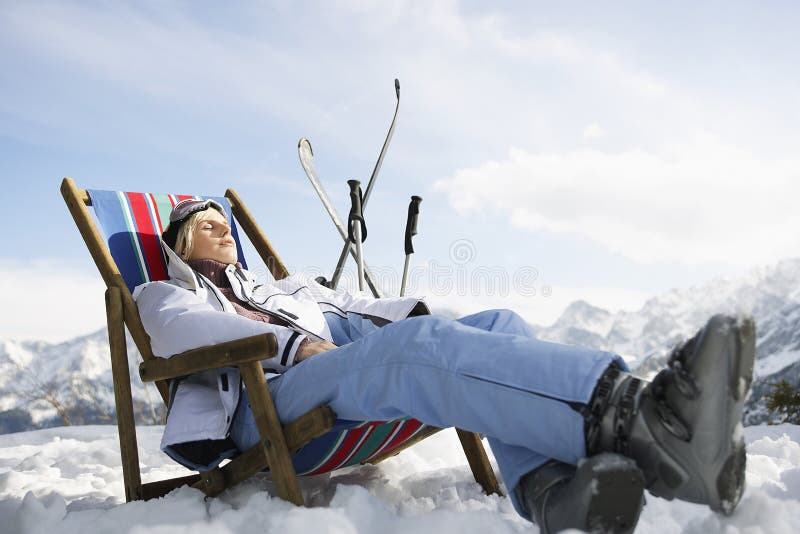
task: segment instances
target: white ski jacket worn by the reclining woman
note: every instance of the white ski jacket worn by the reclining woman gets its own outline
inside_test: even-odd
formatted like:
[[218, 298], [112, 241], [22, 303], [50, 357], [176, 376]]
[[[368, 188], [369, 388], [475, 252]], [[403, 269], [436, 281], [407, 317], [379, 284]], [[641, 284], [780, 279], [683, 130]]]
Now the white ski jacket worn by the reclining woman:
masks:
[[[267, 373], [281, 373], [292, 366], [304, 339], [332, 341], [324, 314], [356, 313], [383, 324], [406, 318], [422, 302], [413, 297], [350, 295], [302, 274], [259, 283], [248, 271], [229, 265], [225, 273], [237, 298], [290, 327], [253, 321], [238, 315], [222, 292], [172, 249], [164, 245], [164, 250], [170, 279], [142, 284], [133, 292], [153, 354], [161, 358], [266, 332], [275, 334], [278, 352], [262, 366]], [[162, 449], [170, 452], [167, 448], [174, 444], [226, 439], [239, 402], [240, 380], [238, 368], [226, 368], [173, 381]]]

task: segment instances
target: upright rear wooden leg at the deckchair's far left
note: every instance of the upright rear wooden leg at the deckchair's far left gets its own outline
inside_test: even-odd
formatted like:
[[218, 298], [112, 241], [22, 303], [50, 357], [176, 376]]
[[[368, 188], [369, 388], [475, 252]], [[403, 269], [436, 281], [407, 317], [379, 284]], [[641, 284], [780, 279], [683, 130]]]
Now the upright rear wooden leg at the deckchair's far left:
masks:
[[122, 478], [127, 502], [142, 499], [142, 478], [139, 471], [139, 450], [136, 445], [136, 421], [133, 418], [131, 375], [125, 343], [122, 295], [119, 288], [106, 290], [108, 344], [111, 348], [111, 374], [114, 378], [114, 403], [117, 410], [119, 451], [122, 457]]

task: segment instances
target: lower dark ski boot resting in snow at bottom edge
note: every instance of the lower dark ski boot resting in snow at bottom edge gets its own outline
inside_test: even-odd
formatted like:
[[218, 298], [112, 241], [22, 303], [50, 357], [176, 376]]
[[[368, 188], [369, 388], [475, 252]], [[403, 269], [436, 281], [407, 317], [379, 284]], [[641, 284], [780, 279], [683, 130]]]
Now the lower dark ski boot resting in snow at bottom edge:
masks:
[[542, 534], [568, 528], [630, 533], [644, 503], [644, 475], [619, 454], [585, 458], [577, 468], [551, 460], [522, 478], [517, 496]]

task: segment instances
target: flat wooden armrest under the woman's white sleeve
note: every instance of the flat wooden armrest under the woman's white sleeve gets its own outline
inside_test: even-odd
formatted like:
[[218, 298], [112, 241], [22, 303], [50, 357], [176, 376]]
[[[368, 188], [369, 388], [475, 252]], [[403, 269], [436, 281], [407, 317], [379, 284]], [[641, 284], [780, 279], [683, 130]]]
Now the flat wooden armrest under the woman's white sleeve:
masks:
[[142, 382], [166, 380], [209, 369], [255, 362], [278, 353], [275, 334], [259, 334], [187, 350], [171, 358], [153, 358], [139, 365]]

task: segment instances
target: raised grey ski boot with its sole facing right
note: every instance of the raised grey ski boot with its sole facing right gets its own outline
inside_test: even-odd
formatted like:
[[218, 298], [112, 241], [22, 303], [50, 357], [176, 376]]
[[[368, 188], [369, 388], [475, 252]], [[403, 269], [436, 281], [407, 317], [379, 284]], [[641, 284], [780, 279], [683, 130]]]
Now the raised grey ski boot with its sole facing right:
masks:
[[716, 315], [652, 383], [609, 369], [590, 405], [587, 451], [633, 458], [658, 497], [732, 513], [744, 490], [742, 407], [754, 355], [753, 320]]

